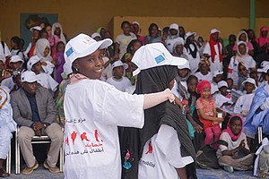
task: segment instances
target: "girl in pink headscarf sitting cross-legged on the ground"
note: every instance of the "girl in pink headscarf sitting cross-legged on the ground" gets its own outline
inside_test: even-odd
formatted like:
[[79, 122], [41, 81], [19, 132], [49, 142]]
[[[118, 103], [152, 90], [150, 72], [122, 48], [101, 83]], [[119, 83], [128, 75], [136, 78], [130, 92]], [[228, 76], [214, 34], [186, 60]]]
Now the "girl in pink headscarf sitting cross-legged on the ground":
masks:
[[232, 115], [220, 137], [220, 146], [217, 150], [219, 165], [232, 173], [236, 170], [248, 170], [253, 155], [247, 146], [247, 138], [243, 131], [244, 122], [240, 115]]

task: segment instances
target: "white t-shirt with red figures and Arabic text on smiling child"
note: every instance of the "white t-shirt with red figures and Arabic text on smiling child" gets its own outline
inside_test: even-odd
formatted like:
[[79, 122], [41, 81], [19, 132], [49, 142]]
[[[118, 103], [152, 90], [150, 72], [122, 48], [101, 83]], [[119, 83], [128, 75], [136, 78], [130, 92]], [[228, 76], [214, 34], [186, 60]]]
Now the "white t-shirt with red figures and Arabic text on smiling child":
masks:
[[117, 126], [143, 127], [143, 95], [85, 79], [65, 91], [65, 179], [121, 177]]

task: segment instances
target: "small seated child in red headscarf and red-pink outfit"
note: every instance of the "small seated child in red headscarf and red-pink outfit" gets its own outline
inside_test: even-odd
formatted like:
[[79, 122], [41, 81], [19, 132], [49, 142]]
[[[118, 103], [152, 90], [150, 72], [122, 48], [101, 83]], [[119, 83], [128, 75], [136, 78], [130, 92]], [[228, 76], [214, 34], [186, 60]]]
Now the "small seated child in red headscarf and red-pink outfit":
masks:
[[[219, 141], [221, 136], [219, 123], [223, 121], [223, 118], [217, 117], [216, 103], [211, 96], [211, 85], [209, 81], [200, 81], [197, 85], [197, 93], [201, 97], [197, 99], [195, 107], [199, 120], [204, 124], [204, 144], [210, 145], [212, 141]], [[216, 146], [214, 148], [216, 149]]]

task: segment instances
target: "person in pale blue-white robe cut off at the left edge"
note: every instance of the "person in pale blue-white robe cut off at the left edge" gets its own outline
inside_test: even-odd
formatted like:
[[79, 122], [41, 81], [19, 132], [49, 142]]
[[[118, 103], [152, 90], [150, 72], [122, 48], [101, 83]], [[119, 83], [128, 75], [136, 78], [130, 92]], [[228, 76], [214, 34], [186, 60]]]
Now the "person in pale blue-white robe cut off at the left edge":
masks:
[[13, 121], [10, 96], [4, 87], [0, 87], [0, 177], [9, 176], [3, 169], [3, 160], [7, 157], [12, 132], [16, 129]]

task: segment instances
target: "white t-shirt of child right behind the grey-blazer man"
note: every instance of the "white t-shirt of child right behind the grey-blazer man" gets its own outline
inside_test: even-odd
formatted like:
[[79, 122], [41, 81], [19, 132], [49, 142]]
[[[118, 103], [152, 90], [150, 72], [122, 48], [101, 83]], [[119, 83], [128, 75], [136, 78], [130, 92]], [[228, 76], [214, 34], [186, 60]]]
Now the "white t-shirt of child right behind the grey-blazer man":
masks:
[[57, 90], [59, 83], [57, 83], [57, 81], [55, 81], [48, 73], [40, 72], [37, 74], [37, 78], [42, 87], [52, 91]]

